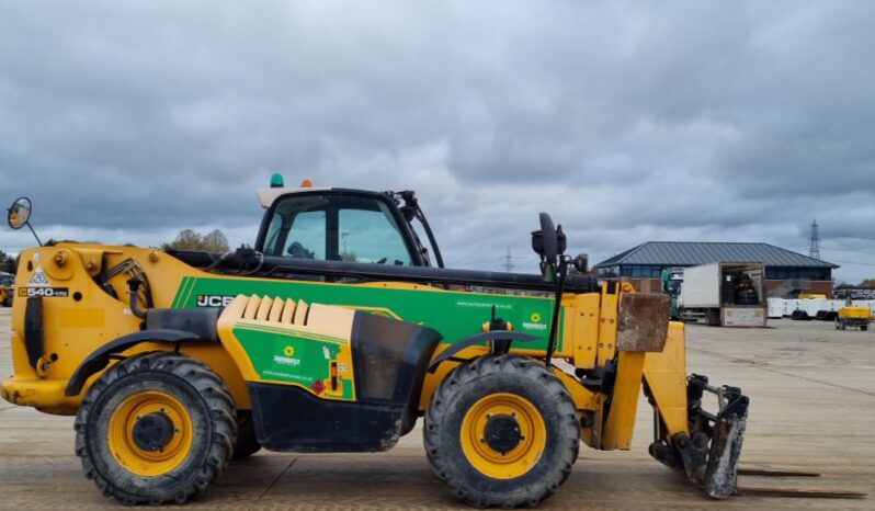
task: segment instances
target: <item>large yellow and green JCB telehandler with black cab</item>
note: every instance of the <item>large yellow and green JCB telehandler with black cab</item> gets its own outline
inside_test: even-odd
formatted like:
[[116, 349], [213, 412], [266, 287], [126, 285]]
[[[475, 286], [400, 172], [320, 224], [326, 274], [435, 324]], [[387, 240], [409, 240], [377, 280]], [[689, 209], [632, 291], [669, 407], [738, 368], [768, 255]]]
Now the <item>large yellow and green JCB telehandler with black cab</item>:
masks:
[[[641, 389], [650, 454], [711, 497], [736, 491], [748, 398], [688, 376], [668, 297], [587, 275], [548, 215], [532, 234], [541, 275], [450, 270], [412, 192], [276, 181], [258, 192], [253, 248], [21, 252], [2, 397], [76, 415], [104, 495], [181, 503], [261, 447], [386, 451], [424, 417], [458, 498], [535, 506], [581, 441], [629, 448]], [[10, 226], [30, 214], [16, 201]]]

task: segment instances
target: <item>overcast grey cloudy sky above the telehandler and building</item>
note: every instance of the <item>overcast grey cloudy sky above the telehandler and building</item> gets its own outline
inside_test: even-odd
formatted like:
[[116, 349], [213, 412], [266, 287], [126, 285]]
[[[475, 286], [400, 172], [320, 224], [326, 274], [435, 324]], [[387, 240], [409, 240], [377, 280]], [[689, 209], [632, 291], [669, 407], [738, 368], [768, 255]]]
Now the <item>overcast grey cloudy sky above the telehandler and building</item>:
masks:
[[[254, 189], [418, 191], [448, 265], [765, 241], [875, 276], [875, 4], [0, 2], [0, 202], [254, 241]], [[0, 249], [32, 245], [0, 228]]]

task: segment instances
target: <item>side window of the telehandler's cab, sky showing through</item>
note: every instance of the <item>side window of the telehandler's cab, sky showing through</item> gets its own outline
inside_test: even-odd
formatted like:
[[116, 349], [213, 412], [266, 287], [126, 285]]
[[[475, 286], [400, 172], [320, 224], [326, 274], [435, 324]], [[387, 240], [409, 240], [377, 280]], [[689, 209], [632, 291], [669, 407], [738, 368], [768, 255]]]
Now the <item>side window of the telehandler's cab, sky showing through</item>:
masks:
[[265, 256], [412, 265], [390, 206], [378, 198], [289, 195], [279, 200], [264, 237]]

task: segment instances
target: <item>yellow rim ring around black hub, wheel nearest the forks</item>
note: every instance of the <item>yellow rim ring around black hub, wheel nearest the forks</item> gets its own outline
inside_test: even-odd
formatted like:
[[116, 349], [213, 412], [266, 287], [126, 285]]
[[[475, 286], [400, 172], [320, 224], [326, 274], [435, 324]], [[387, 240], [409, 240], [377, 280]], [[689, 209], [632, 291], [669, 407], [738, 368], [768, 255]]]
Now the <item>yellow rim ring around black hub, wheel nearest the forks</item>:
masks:
[[[496, 416], [510, 416], [520, 429], [520, 442], [504, 454], [492, 448], [486, 427]], [[496, 479], [512, 479], [527, 473], [541, 459], [547, 445], [544, 418], [529, 399], [516, 394], [490, 394], [480, 398], [462, 420], [462, 451], [481, 474]]]

